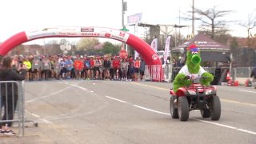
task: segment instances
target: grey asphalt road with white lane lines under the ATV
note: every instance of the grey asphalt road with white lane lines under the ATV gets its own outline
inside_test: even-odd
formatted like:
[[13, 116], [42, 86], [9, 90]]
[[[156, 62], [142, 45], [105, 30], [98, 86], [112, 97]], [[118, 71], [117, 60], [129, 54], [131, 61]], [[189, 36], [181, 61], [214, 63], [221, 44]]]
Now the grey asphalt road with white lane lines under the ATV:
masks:
[[[0, 143], [256, 143], [256, 90], [218, 86], [219, 121], [170, 118], [170, 83], [26, 82], [25, 137]], [[15, 129], [15, 128], [14, 128]]]

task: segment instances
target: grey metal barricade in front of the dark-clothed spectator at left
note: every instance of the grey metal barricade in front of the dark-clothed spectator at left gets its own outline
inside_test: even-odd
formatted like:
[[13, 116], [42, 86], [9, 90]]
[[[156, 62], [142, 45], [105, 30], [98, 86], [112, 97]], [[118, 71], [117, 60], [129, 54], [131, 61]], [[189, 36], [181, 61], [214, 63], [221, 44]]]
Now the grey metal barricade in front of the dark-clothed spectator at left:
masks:
[[0, 81], [0, 123], [18, 122], [18, 137], [24, 136], [24, 81]]

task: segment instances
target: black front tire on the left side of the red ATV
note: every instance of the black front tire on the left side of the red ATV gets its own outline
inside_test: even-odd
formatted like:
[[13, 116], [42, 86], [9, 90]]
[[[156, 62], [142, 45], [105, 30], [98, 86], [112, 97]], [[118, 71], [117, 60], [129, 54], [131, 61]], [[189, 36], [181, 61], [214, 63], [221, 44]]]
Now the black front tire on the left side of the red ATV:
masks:
[[190, 117], [189, 102], [186, 97], [178, 98], [178, 118], [187, 121]]

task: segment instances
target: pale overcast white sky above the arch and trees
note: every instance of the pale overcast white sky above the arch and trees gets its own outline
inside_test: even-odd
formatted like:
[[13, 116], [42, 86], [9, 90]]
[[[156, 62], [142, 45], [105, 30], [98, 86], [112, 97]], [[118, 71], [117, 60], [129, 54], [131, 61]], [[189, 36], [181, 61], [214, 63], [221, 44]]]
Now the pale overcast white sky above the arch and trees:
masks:
[[[142, 13], [142, 22], [150, 24], [186, 25], [182, 34], [191, 34], [190, 21], [179, 21], [191, 10], [192, 0], [124, 0], [127, 2], [127, 16]], [[217, 6], [217, 10], [233, 10], [225, 17], [230, 23], [230, 34], [246, 37], [246, 28], [238, 22], [245, 22], [248, 14], [256, 18], [255, 0], [194, 0], [194, 6], [206, 10]], [[122, 0], [1, 0], [0, 1], [0, 42], [24, 30], [44, 26], [103, 26], [122, 28]], [[195, 23], [198, 30], [200, 22]], [[129, 27], [129, 26], [128, 26]], [[130, 27], [129, 27], [130, 28]], [[254, 34], [256, 34], [254, 28]], [[134, 33], [131, 28], [130, 33]], [[45, 38], [45, 42], [51, 38]], [[106, 38], [105, 38], [106, 39]], [[70, 41], [77, 41], [71, 38]], [[38, 39], [29, 43], [42, 44]]]

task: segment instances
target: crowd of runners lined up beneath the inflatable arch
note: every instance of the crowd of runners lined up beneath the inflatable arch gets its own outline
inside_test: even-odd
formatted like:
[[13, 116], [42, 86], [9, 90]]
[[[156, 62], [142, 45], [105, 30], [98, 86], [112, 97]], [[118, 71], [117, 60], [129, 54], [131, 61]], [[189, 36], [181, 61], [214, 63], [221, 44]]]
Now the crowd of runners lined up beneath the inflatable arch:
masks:
[[142, 58], [119, 56], [14, 56], [12, 66], [26, 74], [26, 81], [50, 79], [143, 80], [146, 63]]

